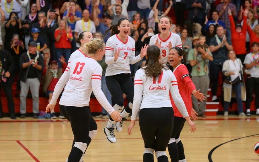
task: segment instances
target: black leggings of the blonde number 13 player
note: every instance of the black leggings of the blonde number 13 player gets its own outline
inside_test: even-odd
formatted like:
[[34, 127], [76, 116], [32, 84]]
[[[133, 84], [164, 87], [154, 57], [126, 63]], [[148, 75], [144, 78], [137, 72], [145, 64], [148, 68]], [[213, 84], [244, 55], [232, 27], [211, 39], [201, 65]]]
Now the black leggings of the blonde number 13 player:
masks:
[[82, 156], [82, 151], [74, 146], [75, 142], [87, 143], [87, 147], [91, 142], [89, 131], [97, 130], [97, 124], [89, 113], [88, 106], [75, 107], [59, 105], [62, 115], [70, 121], [74, 134], [74, 141], [68, 161], [79, 161]]

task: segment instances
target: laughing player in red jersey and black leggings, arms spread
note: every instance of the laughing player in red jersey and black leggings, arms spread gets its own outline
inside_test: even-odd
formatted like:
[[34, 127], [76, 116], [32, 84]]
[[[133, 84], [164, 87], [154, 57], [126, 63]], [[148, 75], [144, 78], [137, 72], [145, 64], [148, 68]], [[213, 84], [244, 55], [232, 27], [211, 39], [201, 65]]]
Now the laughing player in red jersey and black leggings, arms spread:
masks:
[[[204, 94], [200, 93], [200, 90], [196, 90], [195, 85], [190, 78], [188, 69], [184, 64], [181, 63], [181, 61], [183, 60], [183, 50], [181, 48], [171, 48], [171, 50], [169, 51], [168, 60], [169, 62], [167, 65], [173, 71], [176, 77], [179, 93], [183, 98], [183, 102], [186, 106], [187, 112], [189, 116], [192, 116], [195, 120], [197, 119], [197, 117], [195, 116], [196, 112], [192, 109], [191, 94], [199, 99], [201, 102], [202, 100], [205, 100], [205, 96]], [[184, 156], [183, 143], [180, 140], [180, 133], [183, 129], [186, 119], [183, 118], [181, 112], [177, 109], [176, 104], [172, 98], [171, 102], [174, 109], [174, 126], [167, 147], [172, 162], [184, 162], [186, 160]]]

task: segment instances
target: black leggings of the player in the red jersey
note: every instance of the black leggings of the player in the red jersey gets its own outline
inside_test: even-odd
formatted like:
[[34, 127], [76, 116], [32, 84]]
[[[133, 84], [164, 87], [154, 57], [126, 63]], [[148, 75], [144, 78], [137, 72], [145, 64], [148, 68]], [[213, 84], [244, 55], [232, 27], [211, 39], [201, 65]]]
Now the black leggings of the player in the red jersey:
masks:
[[[172, 131], [171, 138], [180, 138], [181, 131], [186, 119], [182, 117], [174, 117], [174, 128]], [[179, 141], [178, 143], [173, 142], [168, 145], [168, 152], [172, 162], [178, 162], [179, 160], [185, 159], [183, 143]]]

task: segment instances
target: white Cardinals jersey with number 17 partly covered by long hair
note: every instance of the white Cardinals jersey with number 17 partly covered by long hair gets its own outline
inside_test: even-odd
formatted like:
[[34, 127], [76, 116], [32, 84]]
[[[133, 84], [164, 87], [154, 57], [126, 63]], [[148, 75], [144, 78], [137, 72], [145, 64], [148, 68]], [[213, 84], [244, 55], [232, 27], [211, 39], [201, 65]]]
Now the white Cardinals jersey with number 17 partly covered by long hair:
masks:
[[154, 77], [147, 78], [145, 70], [139, 69], [135, 74], [131, 120], [136, 120], [140, 109], [172, 107], [169, 91], [183, 117], [189, 116], [179, 94], [176, 77], [171, 70], [162, 69], [161, 75], [155, 79]]

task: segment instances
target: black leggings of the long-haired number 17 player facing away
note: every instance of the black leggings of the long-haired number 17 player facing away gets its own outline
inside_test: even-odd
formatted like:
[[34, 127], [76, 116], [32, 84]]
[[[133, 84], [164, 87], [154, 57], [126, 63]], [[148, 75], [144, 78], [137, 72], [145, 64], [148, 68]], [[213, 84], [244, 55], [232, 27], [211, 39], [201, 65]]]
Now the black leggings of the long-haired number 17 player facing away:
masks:
[[172, 107], [144, 108], [139, 112], [139, 126], [145, 148], [165, 151], [174, 125]]

